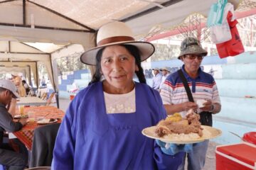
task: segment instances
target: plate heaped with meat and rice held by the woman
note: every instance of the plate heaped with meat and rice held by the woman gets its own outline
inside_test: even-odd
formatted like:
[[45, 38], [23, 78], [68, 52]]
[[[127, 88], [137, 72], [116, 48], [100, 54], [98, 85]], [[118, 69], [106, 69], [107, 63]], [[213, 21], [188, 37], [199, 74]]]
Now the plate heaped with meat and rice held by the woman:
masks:
[[189, 113], [186, 118], [181, 118], [179, 113], [175, 113], [159, 121], [156, 126], [144, 128], [142, 134], [155, 140], [175, 144], [198, 143], [221, 135], [221, 130], [201, 125], [199, 119], [200, 115], [196, 113]]

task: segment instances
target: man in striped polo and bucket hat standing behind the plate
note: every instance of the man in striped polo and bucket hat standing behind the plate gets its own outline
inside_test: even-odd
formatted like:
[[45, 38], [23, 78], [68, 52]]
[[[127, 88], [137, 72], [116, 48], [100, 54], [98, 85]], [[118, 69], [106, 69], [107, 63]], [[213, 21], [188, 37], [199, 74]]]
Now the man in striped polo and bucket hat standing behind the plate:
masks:
[[[196, 103], [188, 101], [183, 81], [178, 72], [174, 72], [166, 78], [165, 83], [161, 86], [160, 93], [166, 112], [169, 115], [178, 112], [185, 117], [186, 112], [193, 109], [197, 110], [197, 113], [201, 113], [201, 123], [203, 125], [212, 125], [212, 114], [219, 113], [221, 105], [215, 80], [200, 68], [203, 57], [206, 55], [206, 50], [203, 50], [196, 38], [188, 37], [181, 42], [181, 53], [178, 59], [183, 62], [181, 70], [188, 81], [193, 99], [194, 101], [205, 99], [207, 102], [203, 104], [203, 108], [198, 108]], [[207, 147], [208, 140], [193, 145], [193, 151], [187, 154], [188, 170], [203, 168]], [[184, 157], [183, 164], [179, 169], [184, 169], [185, 159], [186, 157]]]

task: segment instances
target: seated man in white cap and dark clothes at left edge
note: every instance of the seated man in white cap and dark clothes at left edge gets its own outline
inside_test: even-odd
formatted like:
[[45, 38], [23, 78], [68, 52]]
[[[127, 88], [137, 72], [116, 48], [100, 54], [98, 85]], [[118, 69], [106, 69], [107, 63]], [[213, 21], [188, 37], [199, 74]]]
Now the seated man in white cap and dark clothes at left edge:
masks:
[[8, 169], [24, 169], [27, 164], [26, 155], [14, 152], [8, 144], [3, 143], [4, 132], [16, 132], [27, 119], [21, 118], [14, 122], [8, 109], [11, 107], [12, 98], [18, 98], [16, 86], [9, 80], [0, 80], [0, 164], [7, 166]]

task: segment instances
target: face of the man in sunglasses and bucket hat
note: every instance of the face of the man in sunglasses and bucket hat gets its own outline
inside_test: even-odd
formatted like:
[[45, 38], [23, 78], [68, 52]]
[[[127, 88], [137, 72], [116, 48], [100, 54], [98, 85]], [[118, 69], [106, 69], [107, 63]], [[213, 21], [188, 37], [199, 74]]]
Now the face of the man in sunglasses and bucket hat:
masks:
[[203, 60], [203, 56], [196, 55], [196, 54], [183, 55], [181, 57], [181, 60], [185, 65], [186, 72], [193, 73], [193, 72], [198, 72], [198, 69]]

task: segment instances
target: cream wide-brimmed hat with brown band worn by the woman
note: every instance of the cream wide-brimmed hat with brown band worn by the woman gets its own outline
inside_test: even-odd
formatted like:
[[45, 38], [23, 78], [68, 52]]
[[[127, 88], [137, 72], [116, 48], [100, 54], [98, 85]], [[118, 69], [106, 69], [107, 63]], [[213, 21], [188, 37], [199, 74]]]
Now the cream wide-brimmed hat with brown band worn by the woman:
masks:
[[150, 42], [135, 41], [132, 30], [125, 23], [114, 21], [107, 23], [97, 33], [97, 47], [82, 53], [81, 62], [96, 65], [97, 52], [102, 47], [110, 45], [134, 45], [139, 49], [141, 61], [146, 60], [154, 53], [154, 45]]

